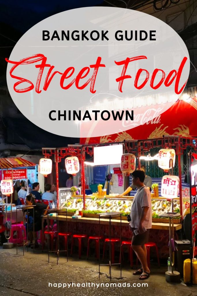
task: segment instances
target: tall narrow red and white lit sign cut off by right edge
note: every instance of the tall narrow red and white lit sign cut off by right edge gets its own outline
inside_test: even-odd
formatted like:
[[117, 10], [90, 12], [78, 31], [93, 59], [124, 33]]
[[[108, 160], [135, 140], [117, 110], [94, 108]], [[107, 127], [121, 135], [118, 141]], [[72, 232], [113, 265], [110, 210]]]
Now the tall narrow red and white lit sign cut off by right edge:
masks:
[[197, 231], [197, 154], [192, 155], [191, 165], [192, 237]]

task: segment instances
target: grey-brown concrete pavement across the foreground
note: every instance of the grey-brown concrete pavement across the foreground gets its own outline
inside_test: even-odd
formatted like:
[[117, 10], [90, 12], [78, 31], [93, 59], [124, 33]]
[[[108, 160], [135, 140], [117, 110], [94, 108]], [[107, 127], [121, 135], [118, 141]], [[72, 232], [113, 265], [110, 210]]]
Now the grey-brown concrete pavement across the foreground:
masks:
[[[101, 267], [101, 276], [98, 277], [98, 261], [92, 256], [90, 260], [77, 257], [66, 261], [64, 253], [61, 254], [58, 265], [56, 255], [50, 255], [48, 263], [47, 252], [42, 253], [41, 248], [25, 248], [25, 256], [22, 256], [22, 248], [16, 255], [16, 248], [2, 249], [0, 247], [1, 276], [0, 296], [26, 296], [26, 295], [162, 295], [162, 296], [197, 296], [197, 286], [186, 286], [184, 283], [169, 284], [165, 281], [166, 267], [152, 266], [151, 276], [146, 281], [140, 281], [139, 276], [133, 276], [133, 270], [128, 264], [123, 266], [122, 278], [118, 267], [112, 268], [112, 281], [108, 278], [108, 267]], [[52, 287], [49, 283], [52, 284]], [[66, 287], [54, 287], [54, 284], [65, 283]], [[82, 284], [82, 287], [77, 287]], [[90, 284], [88, 284], [90, 283]], [[93, 283], [93, 285], [92, 285]], [[98, 287], [102, 283], [104, 287]], [[110, 287], [110, 283], [113, 287]], [[70, 287], [68, 287], [68, 284]], [[115, 287], [116, 284], [116, 287]], [[148, 284], [148, 287], [134, 287], [133, 284]], [[76, 285], [76, 287], [75, 287]], [[89, 287], [90, 285], [90, 287]], [[94, 286], [95, 287], [91, 287]], [[109, 285], [109, 287], [108, 287]], [[123, 285], [120, 287], [120, 285]], [[130, 287], [128, 287], [130, 285]], [[84, 286], [84, 287], [83, 287]]]

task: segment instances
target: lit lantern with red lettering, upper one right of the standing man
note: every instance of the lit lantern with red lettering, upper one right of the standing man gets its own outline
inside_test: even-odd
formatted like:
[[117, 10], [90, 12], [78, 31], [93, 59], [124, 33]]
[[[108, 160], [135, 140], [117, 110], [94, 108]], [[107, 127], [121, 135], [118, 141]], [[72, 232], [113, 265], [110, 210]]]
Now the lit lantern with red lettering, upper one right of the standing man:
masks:
[[158, 153], [158, 166], [163, 170], [169, 170], [175, 166], [175, 150], [174, 149], [160, 149]]

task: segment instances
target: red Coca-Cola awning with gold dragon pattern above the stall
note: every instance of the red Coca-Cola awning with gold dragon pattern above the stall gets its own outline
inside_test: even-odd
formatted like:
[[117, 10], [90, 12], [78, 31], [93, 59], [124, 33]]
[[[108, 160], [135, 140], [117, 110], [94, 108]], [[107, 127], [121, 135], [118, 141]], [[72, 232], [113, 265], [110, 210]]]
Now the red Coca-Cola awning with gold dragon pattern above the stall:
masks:
[[[197, 98], [178, 100], [167, 111], [161, 113], [165, 104], [151, 106], [138, 115], [133, 115], [133, 120], [127, 121], [128, 130], [102, 137], [81, 138], [81, 144], [110, 143], [127, 140], [154, 139], [163, 135], [175, 135], [184, 137], [197, 136], [194, 120], [197, 116]], [[124, 120], [124, 119], [123, 119]], [[137, 126], [140, 124], [140, 126]], [[133, 126], [136, 126], [133, 128]], [[82, 124], [83, 128], [83, 124]], [[96, 126], [92, 126], [92, 129]], [[131, 129], [129, 129], [131, 128]]]

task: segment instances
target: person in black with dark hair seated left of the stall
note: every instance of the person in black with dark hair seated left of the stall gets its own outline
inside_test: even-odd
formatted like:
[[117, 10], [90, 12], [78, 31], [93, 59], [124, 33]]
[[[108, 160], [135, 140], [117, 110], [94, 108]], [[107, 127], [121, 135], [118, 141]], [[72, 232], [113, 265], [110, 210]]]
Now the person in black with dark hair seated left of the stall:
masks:
[[[28, 209], [28, 239], [30, 240], [30, 245], [33, 248], [33, 237], [34, 237], [34, 247], [38, 248], [38, 238], [37, 231], [42, 229], [42, 215], [47, 213], [48, 205], [40, 202], [35, 202], [35, 197], [33, 194], [26, 196], [26, 205], [35, 205], [34, 207], [34, 221], [33, 221], [33, 209]], [[34, 226], [34, 236], [33, 236], [33, 226]], [[44, 222], [46, 226], [46, 221]]]

